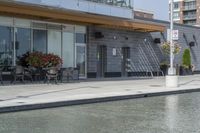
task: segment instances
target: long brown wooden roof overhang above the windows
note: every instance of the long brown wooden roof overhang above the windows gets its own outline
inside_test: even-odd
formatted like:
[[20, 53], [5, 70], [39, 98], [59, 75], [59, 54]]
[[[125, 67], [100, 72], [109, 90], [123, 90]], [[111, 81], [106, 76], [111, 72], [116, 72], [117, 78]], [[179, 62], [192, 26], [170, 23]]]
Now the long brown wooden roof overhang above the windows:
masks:
[[92, 24], [108, 28], [141, 32], [163, 32], [166, 28], [164, 25], [153, 22], [109, 17], [61, 8], [6, 1], [0, 1], [0, 15], [60, 23]]

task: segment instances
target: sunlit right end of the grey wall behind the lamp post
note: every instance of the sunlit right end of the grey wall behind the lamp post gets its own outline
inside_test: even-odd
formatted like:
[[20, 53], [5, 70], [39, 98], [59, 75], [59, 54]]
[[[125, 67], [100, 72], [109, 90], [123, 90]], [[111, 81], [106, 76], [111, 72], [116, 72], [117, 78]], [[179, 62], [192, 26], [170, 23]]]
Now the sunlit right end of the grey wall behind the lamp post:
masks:
[[[169, 23], [163, 22], [166, 27], [170, 27]], [[175, 64], [182, 64], [183, 51], [189, 48], [191, 51], [192, 64], [195, 65], [195, 70], [200, 71], [200, 28], [193, 26], [186, 26], [181, 24], [175, 24], [174, 29], [179, 30], [178, 43], [181, 45], [181, 52], [175, 56]], [[167, 38], [167, 31], [162, 34], [151, 33], [153, 38], [161, 38], [164, 41]], [[190, 47], [189, 43], [195, 42], [194, 47]]]

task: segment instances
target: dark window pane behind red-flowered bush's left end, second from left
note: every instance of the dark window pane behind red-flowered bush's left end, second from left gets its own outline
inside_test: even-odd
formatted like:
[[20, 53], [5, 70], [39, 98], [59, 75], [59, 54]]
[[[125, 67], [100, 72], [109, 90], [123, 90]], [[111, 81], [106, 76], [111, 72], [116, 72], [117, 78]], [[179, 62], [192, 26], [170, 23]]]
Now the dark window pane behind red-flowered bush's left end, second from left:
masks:
[[31, 50], [31, 30], [27, 28], [16, 28], [15, 50], [18, 61], [21, 56]]

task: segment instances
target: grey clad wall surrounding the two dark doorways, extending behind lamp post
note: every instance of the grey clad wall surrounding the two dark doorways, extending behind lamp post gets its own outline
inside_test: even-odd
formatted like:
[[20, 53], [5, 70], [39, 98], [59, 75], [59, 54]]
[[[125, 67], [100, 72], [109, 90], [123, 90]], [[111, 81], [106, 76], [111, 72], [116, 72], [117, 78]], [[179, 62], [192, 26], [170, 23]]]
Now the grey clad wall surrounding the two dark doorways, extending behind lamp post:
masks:
[[[169, 27], [167, 22], [159, 22]], [[167, 29], [167, 28], [166, 28]], [[200, 71], [200, 29], [192, 26], [177, 24], [174, 29], [179, 30], [178, 43], [181, 44], [181, 52], [175, 56], [175, 64], [182, 63], [182, 53], [184, 49], [191, 50], [192, 64], [196, 71]], [[95, 32], [101, 32], [104, 37], [95, 38]], [[168, 56], [162, 53], [160, 43], [154, 43], [155, 38], [160, 38], [161, 42], [167, 39], [167, 31], [160, 32], [137, 32], [129, 30], [109, 29], [98, 26], [88, 27], [88, 46], [87, 46], [87, 71], [88, 73], [97, 72], [97, 46], [107, 46], [107, 66], [106, 72], [121, 72], [122, 70], [122, 47], [130, 47], [130, 58], [132, 62], [131, 71], [142, 71], [150, 69], [157, 71], [159, 63]], [[195, 42], [194, 47], [189, 43]], [[117, 49], [117, 55], [113, 55], [113, 48]]]

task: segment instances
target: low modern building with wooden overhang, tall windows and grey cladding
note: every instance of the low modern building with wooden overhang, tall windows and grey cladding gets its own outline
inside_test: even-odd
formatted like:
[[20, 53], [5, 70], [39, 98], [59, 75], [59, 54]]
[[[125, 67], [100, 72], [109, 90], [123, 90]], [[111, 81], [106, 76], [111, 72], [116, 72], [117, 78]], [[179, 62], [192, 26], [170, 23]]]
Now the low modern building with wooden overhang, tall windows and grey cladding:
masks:
[[[59, 55], [62, 67], [79, 67], [81, 78], [156, 72], [163, 56], [154, 39], [164, 40], [169, 24], [134, 18], [130, 5], [124, 0], [1, 1], [0, 42], [9, 48], [0, 49], [9, 55], [1, 60], [16, 65], [27, 51], [40, 51]], [[189, 47], [185, 38], [198, 44], [198, 28], [175, 26], [181, 29], [182, 48]], [[194, 55], [199, 52], [197, 47]]]

